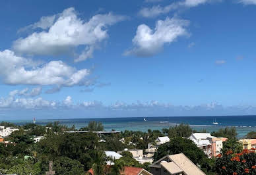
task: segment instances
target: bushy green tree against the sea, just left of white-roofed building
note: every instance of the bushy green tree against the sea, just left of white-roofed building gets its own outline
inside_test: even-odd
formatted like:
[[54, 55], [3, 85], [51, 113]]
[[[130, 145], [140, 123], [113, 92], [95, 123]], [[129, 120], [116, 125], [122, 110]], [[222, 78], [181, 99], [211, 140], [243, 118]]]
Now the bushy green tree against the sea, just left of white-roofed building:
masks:
[[175, 127], [170, 127], [169, 129], [163, 129], [164, 134], [168, 137], [189, 137], [193, 133], [192, 128], [188, 124], [179, 124]]

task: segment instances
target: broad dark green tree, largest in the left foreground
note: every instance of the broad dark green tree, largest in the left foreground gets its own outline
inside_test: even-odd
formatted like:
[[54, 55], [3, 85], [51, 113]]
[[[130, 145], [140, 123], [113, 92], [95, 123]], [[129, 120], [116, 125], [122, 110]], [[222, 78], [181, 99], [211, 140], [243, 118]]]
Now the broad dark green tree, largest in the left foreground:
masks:
[[88, 132], [84, 134], [50, 134], [38, 143], [40, 152], [55, 161], [56, 157], [69, 157], [84, 164], [84, 170], [92, 167], [92, 157], [98, 146], [98, 136]]

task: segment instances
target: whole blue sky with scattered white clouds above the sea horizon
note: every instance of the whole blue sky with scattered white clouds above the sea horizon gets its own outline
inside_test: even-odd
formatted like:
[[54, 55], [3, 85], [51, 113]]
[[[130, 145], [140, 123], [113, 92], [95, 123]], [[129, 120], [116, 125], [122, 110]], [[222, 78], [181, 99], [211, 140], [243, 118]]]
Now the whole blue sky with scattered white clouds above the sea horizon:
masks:
[[0, 120], [256, 114], [256, 0], [1, 1]]

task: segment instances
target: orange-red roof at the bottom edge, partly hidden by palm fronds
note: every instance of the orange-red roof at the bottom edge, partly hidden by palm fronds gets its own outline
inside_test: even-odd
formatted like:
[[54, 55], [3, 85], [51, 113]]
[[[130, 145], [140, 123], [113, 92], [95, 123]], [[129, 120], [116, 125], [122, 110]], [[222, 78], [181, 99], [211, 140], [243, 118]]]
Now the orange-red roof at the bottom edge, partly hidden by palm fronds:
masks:
[[[89, 175], [94, 175], [94, 172], [92, 168], [88, 170]], [[137, 168], [137, 167], [131, 167], [131, 166], [125, 166], [123, 168], [123, 171], [120, 172], [121, 175], [153, 175], [147, 170], [144, 170], [143, 168]]]

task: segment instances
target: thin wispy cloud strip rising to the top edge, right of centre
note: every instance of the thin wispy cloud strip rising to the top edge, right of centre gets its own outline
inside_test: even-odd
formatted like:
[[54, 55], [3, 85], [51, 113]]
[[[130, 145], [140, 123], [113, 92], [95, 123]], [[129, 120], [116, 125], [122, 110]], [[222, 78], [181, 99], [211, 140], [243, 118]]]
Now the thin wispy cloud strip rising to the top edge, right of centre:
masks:
[[[139, 15], [145, 18], [154, 18], [161, 14], [170, 13], [170, 11], [174, 11], [178, 8], [186, 7], [196, 7], [198, 5], [202, 5], [205, 3], [210, 3], [214, 1], [221, 1], [221, 0], [185, 0], [185, 1], [177, 1], [175, 3], [171, 3], [170, 5], [166, 5], [164, 7], [160, 5], [155, 5], [153, 7], [144, 7], [139, 11]], [[246, 0], [245, 0], [246, 1]], [[250, 0], [248, 0], [250, 1]], [[253, 0], [251, 0], [253, 1]]]

